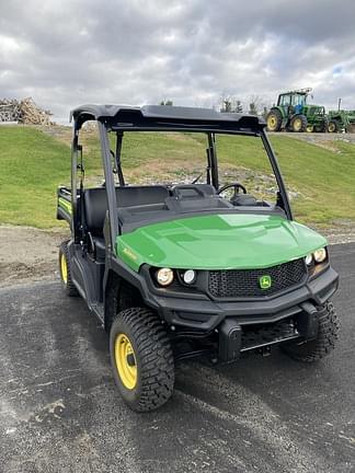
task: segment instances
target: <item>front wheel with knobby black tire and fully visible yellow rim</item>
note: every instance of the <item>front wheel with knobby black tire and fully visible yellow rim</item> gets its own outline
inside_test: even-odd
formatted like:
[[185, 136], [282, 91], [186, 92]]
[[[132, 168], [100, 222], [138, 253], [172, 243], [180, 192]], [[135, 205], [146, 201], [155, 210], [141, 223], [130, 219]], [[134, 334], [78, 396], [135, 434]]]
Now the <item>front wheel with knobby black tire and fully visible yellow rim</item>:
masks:
[[118, 391], [133, 411], [153, 411], [171, 397], [173, 353], [160, 319], [151, 310], [118, 312], [111, 326], [110, 356]]

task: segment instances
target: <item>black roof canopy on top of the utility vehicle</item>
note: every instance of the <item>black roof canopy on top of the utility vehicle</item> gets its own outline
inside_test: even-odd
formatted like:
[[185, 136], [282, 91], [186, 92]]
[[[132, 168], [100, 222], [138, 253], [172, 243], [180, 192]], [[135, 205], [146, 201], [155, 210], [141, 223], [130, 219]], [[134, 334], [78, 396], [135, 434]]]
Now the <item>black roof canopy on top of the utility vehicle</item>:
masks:
[[77, 129], [88, 120], [100, 120], [111, 129], [191, 129], [222, 132], [259, 132], [263, 118], [237, 113], [219, 113], [213, 108], [169, 105], [81, 105], [70, 113]]

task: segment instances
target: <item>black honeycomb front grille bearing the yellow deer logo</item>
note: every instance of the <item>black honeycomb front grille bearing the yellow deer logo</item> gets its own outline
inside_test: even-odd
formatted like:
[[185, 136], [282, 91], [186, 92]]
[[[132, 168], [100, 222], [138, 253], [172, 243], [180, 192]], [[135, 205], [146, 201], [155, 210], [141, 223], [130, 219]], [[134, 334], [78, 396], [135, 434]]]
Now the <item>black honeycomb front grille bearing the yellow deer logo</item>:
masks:
[[[271, 287], [262, 289], [260, 279], [271, 277]], [[272, 296], [300, 284], [306, 277], [302, 258], [265, 269], [228, 269], [209, 272], [208, 289], [216, 298]]]

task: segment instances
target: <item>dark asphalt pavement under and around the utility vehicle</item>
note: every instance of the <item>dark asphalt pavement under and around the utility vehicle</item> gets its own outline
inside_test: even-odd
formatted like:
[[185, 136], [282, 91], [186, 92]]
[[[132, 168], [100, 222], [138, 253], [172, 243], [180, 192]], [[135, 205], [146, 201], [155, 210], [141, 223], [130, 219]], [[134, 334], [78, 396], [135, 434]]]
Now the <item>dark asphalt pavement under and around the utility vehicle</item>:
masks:
[[58, 281], [0, 290], [0, 472], [355, 472], [355, 244], [331, 249], [336, 349], [181, 365], [172, 400], [130, 412], [107, 336]]

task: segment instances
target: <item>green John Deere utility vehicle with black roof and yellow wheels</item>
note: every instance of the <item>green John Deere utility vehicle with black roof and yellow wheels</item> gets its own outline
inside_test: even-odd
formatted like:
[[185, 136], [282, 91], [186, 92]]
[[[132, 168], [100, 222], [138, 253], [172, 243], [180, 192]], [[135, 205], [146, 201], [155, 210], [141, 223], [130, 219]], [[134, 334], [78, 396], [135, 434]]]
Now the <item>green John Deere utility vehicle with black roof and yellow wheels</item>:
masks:
[[[59, 251], [62, 286], [87, 301], [110, 334], [113, 376], [133, 409], [169, 400], [180, 360], [230, 364], [280, 346], [291, 358], [314, 361], [333, 349], [337, 274], [325, 239], [293, 219], [261, 118], [119, 105], [83, 105], [71, 116], [71, 187], [59, 187], [57, 207], [71, 229]], [[88, 120], [96, 120], [101, 141], [104, 182], [96, 186], [83, 178], [80, 130]], [[152, 159], [149, 134], [176, 143], [183, 134], [202, 150], [205, 142], [203, 173], [188, 184], [128, 185], [123, 162], [139, 137]], [[236, 159], [240, 140], [263, 149], [276, 183], [273, 201], [248, 192], [245, 181], [220, 183], [217, 147], [234, 140]]]

